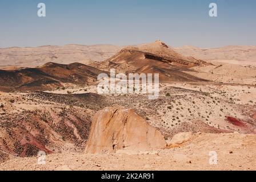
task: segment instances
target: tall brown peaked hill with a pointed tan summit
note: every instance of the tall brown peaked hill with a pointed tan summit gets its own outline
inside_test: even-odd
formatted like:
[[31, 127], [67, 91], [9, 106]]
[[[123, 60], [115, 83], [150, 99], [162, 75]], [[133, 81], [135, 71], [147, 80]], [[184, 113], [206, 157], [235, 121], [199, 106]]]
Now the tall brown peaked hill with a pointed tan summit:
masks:
[[114, 68], [121, 73], [159, 73], [160, 81], [206, 81], [184, 71], [194, 66], [209, 65], [203, 60], [185, 57], [165, 43], [157, 41], [137, 47], [126, 47], [116, 55], [94, 67], [109, 71]]

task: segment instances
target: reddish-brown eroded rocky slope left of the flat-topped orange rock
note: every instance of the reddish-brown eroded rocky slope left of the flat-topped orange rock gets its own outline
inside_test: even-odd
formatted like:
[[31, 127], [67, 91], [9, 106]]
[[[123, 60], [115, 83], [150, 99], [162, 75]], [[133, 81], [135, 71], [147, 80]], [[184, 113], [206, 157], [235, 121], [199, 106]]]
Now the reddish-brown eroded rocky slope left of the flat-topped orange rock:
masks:
[[35, 156], [79, 151], [94, 111], [39, 100], [30, 94], [0, 93], [0, 155]]

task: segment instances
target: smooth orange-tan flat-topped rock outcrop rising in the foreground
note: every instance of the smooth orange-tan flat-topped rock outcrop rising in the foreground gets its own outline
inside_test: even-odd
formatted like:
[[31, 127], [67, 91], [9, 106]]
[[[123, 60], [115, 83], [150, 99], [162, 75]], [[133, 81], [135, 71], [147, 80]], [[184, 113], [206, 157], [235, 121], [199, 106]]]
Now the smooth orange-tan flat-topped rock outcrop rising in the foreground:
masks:
[[163, 135], [133, 109], [106, 107], [93, 118], [85, 153], [149, 151], [163, 147], [166, 147]]

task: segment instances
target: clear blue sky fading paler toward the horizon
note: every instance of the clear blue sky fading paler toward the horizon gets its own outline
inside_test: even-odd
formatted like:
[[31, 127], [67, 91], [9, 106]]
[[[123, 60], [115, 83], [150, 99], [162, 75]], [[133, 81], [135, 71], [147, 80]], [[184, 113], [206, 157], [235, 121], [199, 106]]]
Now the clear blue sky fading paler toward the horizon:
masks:
[[[46, 4], [46, 17], [37, 5]], [[210, 18], [209, 4], [218, 5]], [[256, 44], [255, 0], [0, 0], [0, 47]]]

